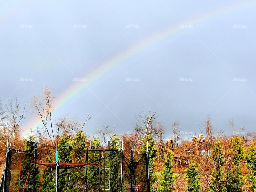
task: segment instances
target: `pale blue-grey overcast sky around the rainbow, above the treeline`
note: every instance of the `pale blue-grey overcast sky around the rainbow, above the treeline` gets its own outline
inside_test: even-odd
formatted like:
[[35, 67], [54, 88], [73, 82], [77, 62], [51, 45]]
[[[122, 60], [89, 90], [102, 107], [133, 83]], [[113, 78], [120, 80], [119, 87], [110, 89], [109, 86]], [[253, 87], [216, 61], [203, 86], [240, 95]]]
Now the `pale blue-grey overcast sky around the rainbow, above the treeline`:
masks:
[[[114, 124], [121, 133], [150, 106], [167, 136], [174, 120], [198, 133], [209, 116], [226, 134], [231, 118], [253, 131], [255, 8], [244, 0], [1, 2], [0, 98], [27, 103], [22, 129], [28, 129], [35, 117], [30, 99], [45, 86], [60, 98], [78, 83], [74, 78], [97, 72], [105, 61], [115, 65], [120, 53], [145, 42], [111, 70], [93, 73], [100, 77], [70, 93], [54, 118], [68, 113], [82, 121], [90, 114], [87, 133]], [[182, 29], [162, 35], [173, 25]]]

